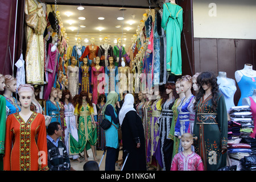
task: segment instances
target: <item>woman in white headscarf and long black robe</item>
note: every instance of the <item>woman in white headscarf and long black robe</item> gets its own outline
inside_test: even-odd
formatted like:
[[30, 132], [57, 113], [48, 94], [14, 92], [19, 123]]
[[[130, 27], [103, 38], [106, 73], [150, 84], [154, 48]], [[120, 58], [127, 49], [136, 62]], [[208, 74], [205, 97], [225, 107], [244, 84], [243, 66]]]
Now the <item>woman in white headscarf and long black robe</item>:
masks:
[[123, 161], [129, 152], [123, 171], [146, 171], [144, 129], [141, 117], [134, 109], [132, 94], [126, 94], [118, 117], [122, 129]]

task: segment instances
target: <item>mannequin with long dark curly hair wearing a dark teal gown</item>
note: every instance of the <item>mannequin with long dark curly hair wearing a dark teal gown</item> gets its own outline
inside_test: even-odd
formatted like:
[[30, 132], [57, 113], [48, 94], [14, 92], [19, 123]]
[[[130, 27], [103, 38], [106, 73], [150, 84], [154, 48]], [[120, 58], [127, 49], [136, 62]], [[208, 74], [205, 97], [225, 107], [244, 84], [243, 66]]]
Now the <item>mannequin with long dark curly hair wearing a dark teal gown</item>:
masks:
[[[197, 77], [197, 84], [199, 92], [193, 127], [193, 135], [197, 137], [195, 152], [201, 156], [205, 171], [216, 171], [226, 167], [228, 114], [225, 98], [218, 92], [217, 78], [212, 73], [202, 72]], [[212, 155], [216, 155], [214, 161], [209, 160]]]

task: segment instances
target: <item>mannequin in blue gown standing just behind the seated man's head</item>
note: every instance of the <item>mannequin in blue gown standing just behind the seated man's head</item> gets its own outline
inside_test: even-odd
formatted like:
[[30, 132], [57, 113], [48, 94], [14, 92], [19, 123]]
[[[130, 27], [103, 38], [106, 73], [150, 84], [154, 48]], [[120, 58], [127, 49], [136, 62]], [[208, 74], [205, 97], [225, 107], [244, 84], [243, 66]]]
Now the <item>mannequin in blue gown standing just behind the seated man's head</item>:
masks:
[[[49, 99], [46, 101], [46, 115], [52, 117], [51, 122], [59, 122], [60, 123], [60, 106], [59, 103], [55, 101], [57, 98], [57, 89], [52, 87], [51, 94]], [[60, 123], [61, 124], [61, 123]]]

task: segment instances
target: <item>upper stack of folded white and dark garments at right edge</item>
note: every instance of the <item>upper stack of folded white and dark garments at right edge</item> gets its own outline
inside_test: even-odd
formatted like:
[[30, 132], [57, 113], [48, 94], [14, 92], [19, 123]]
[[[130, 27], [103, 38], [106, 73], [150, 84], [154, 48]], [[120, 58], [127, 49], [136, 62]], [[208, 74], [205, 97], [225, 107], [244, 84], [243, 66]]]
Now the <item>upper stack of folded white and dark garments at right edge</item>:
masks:
[[240, 127], [240, 138], [250, 138], [253, 133], [253, 119], [251, 118], [250, 106], [234, 106], [229, 110], [230, 125], [234, 125], [232, 135], [238, 135], [238, 127]]

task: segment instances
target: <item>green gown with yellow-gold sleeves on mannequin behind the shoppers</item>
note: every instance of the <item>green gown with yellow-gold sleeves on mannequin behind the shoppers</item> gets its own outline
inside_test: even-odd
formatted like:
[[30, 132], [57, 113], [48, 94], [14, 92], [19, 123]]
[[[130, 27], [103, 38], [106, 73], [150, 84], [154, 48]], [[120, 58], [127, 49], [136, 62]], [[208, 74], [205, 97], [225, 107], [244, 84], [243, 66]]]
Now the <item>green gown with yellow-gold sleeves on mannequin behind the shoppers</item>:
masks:
[[94, 128], [91, 115], [94, 114], [93, 107], [88, 104], [82, 105], [80, 109], [78, 104], [75, 107], [75, 115], [79, 116], [79, 142], [73, 136], [70, 136], [70, 152], [69, 154], [79, 154], [90, 149], [90, 145], [95, 146], [97, 143], [97, 129]]

